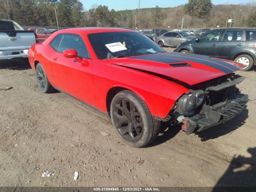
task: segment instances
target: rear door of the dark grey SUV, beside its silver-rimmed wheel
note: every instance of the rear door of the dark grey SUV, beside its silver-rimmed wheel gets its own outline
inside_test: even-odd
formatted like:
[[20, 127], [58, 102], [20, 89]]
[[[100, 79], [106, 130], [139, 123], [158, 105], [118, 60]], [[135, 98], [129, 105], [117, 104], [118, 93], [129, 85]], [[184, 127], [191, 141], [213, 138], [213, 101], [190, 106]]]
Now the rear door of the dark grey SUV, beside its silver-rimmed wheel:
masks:
[[216, 57], [232, 59], [234, 53], [244, 49], [246, 44], [244, 30], [225, 30], [222, 40], [218, 42]]

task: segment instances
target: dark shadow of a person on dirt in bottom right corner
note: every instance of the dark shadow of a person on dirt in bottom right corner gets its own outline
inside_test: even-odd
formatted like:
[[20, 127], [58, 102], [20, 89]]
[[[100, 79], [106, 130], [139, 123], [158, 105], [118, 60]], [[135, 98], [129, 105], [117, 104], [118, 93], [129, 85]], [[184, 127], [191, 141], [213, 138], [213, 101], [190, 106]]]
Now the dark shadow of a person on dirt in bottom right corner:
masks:
[[250, 157], [234, 156], [212, 192], [256, 191], [256, 148], [248, 148], [247, 152]]

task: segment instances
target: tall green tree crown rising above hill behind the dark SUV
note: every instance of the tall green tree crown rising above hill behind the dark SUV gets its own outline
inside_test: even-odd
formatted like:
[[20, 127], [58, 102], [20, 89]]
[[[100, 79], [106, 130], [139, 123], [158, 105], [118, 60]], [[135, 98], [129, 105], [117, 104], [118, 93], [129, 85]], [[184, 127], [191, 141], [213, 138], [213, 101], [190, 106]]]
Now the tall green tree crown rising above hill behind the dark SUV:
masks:
[[184, 6], [186, 13], [200, 18], [208, 16], [211, 8], [211, 0], [188, 0], [188, 3], [186, 3]]

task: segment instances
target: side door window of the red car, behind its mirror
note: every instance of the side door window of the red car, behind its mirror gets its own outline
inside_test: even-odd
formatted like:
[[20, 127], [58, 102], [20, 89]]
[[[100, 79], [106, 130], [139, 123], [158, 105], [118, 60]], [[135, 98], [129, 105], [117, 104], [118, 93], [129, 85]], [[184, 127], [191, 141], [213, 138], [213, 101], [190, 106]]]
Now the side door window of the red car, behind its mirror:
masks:
[[90, 58], [90, 55], [84, 44], [84, 41], [78, 35], [73, 35], [73, 34], [58, 35], [52, 41], [51, 46], [57, 52], [61, 52], [61, 53], [63, 53], [65, 50], [68, 50], [68, 49], [75, 49], [78, 53], [78, 56], [82, 58]]

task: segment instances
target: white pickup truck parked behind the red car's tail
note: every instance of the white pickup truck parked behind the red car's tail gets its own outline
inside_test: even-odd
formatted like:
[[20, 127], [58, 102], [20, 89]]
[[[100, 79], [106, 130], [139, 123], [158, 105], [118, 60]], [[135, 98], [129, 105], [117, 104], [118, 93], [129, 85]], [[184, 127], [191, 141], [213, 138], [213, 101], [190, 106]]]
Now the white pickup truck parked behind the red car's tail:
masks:
[[28, 49], [37, 42], [33, 31], [25, 31], [14, 21], [0, 20], [0, 61], [28, 58]]

